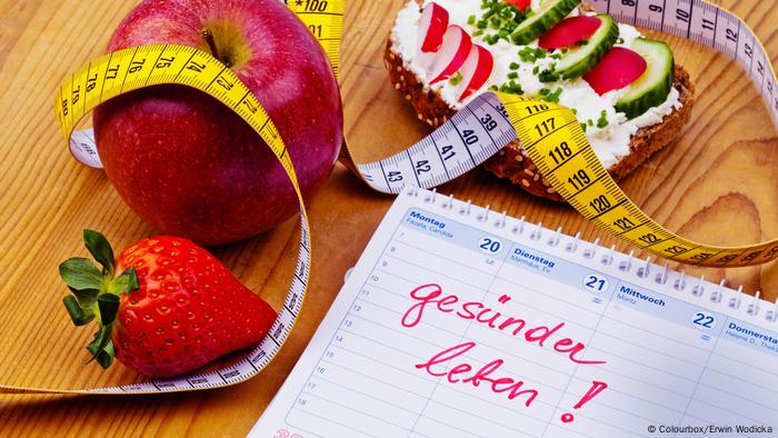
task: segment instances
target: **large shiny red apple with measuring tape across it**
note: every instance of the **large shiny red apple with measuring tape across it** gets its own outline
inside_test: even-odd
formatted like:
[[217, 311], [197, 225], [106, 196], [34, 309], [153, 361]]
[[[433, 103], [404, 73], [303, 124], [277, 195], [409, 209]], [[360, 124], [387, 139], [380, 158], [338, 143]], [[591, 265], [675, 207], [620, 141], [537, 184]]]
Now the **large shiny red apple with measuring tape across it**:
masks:
[[[149, 43], [197, 47], [228, 64], [276, 123], [303, 196], [322, 186], [342, 141], [340, 92], [323, 50], [283, 3], [146, 0], [108, 51]], [[289, 178], [259, 135], [201, 91], [133, 91], [97, 108], [93, 122], [109, 180], [164, 233], [217, 245], [298, 211]]]

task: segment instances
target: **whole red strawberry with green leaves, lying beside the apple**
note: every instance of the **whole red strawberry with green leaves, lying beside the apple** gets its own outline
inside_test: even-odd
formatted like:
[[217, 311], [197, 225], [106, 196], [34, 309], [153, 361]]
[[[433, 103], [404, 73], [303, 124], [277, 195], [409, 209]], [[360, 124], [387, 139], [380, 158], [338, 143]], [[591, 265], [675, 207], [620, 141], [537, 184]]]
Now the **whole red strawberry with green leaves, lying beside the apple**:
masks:
[[117, 357], [147, 376], [180, 375], [258, 345], [276, 320], [267, 302], [189, 240], [144, 239], [116, 260], [101, 233], [84, 230], [83, 241], [102, 269], [86, 258], [62, 262], [72, 291], [62, 302], [76, 326], [97, 321], [87, 349], [103, 368]]

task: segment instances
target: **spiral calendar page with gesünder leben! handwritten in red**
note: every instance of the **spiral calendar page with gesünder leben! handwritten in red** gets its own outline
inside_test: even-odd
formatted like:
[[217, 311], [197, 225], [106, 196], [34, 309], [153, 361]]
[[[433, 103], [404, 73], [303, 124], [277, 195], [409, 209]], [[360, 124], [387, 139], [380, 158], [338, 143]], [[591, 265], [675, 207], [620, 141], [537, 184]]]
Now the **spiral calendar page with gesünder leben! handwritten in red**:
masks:
[[416, 188], [257, 437], [770, 436], [775, 305]]

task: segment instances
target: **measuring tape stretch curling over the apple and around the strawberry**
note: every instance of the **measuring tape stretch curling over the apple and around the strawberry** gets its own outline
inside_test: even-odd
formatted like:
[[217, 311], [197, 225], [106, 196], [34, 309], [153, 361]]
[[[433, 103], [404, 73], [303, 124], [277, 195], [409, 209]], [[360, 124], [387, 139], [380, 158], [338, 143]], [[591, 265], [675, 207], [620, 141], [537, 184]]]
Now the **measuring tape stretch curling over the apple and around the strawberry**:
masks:
[[[164, 59], [163, 62], [154, 61]], [[164, 83], [189, 86], [218, 99], [246, 120], [273, 151], [287, 171], [300, 206], [300, 243], [297, 266], [289, 291], [278, 318], [262, 341], [245, 358], [229, 367], [211, 372], [191, 374], [172, 379], [154, 380], [94, 389], [49, 389], [0, 386], [0, 392], [68, 392], [68, 394], [143, 394], [186, 391], [223, 387], [241, 382], [262, 370], [281, 349], [300, 313], [310, 275], [310, 226], [300, 186], [289, 153], [278, 129], [259, 100], [225, 64], [191, 47], [152, 44], [120, 50], [100, 57], [77, 70], [60, 87], [54, 111], [62, 133], [71, 140], [76, 157], [99, 167], [97, 148], [90, 132], [73, 128], [98, 104], [119, 94]], [[73, 146], [73, 142], [77, 146]]]

